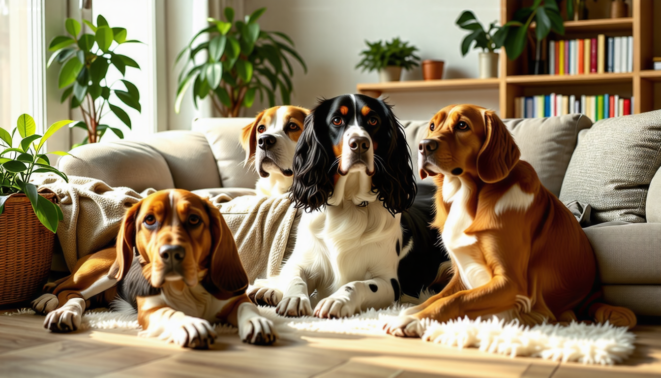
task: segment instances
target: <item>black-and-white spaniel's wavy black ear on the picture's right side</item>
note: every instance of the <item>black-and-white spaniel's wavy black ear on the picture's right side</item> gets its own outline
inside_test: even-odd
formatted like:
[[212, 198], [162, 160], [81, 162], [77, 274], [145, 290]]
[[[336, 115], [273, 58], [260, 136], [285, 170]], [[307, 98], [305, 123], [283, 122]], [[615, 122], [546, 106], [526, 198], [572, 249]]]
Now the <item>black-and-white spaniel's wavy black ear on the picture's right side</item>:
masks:
[[383, 207], [394, 215], [413, 205], [418, 186], [413, 176], [411, 153], [404, 128], [390, 106], [383, 103], [383, 107], [387, 113], [383, 126], [389, 128], [387, 132], [389, 146], [383, 146], [381, 142], [378, 150], [375, 151], [380, 159], [375, 159], [374, 163], [383, 165], [383, 169], [377, 169], [377, 173], [372, 177], [372, 184], [379, 191], [379, 200], [383, 201]]

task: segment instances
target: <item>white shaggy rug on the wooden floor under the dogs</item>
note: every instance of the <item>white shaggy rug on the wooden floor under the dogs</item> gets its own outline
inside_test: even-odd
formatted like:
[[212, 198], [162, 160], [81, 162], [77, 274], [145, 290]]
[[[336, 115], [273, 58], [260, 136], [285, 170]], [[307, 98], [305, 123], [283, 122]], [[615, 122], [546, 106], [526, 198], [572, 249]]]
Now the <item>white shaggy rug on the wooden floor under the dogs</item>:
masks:
[[[406, 305], [393, 305], [383, 310], [367, 310], [350, 318], [319, 319], [312, 316], [284, 318], [274, 307], [260, 307], [262, 314], [276, 324], [279, 332], [329, 332], [366, 336], [385, 336], [383, 324], [396, 317]], [[30, 309], [6, 312], [5, 315], [30, 315]], [[439, 323], [424, 322], [422, 340], [457, 348], [479, 348], [483, 352], [575, 361], [584, 364], [613, 365], [629, 358], [633, 353], [635, 334], [625, 327], [610, 324], [580, 324], [568, 326], [541, 324], [522, 326], [515, 320], [505, 324], [496, 318], [470, 320], [469, 318]], [[83, 315], [81, 328], [139, 329], [135, 310], [121, 308], [118, 312], [92, 310]], [[232, 326], [216, 326], [219, 334], [236, 333]]]

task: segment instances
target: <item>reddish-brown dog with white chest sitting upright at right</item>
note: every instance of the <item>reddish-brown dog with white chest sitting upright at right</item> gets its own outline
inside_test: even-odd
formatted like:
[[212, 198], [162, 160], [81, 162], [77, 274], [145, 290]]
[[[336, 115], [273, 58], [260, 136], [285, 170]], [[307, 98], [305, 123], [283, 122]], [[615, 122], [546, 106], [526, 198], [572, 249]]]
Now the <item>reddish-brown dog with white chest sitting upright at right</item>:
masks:
[[[386, 324], [387, 332], [420, 336], [423, 318], [576, 319], [573, 309], [595, 282], [594, 252], [572, 213], [519, 160], [500, 118], [473, 105], [445, 107], [419, 150], [420, 176], [438, 185], [432, 226], [454, 274], [441, 293]], [[589, 313], [598, 322], [636, 324], [627, 308], [595, 303]]]

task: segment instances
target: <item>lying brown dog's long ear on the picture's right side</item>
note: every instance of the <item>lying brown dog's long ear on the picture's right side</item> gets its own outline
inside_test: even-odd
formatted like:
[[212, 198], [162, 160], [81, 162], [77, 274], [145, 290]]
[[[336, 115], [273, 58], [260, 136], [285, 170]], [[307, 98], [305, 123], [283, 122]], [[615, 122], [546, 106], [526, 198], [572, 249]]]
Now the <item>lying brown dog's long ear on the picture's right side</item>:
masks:
[[209, 270], [202, 281], [204, 289], [217, 299], [225, 300], [245, 293], [248, 275], [243, 269], [237, 244], [220, 211], [206, 201], [212, 235]]

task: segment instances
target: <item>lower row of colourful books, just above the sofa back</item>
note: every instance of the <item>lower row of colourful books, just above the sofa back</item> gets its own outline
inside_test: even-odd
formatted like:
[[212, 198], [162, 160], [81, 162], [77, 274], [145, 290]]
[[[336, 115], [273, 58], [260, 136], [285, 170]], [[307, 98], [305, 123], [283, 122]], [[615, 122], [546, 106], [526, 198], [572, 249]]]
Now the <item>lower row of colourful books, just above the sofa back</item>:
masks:
[[582, 113], [593, 121], [633, 114], [633, 97], [619, 95], [537, 95], [514, 99], [515, 118], [553, 117]]

